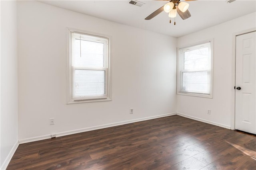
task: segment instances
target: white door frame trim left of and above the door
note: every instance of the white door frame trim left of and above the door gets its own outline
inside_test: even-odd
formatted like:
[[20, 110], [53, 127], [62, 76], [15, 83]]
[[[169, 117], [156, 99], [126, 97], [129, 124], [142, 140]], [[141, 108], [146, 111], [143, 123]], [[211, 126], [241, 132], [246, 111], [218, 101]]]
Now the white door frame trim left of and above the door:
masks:
[[[233, 84], [233, 87], [236, 86], [236, 36], [254, 32], [254, 31], [256, 31], [255, 27], [233, 33], [232, 35], [232, 84]], [[233, 87], [232, 89], [234, 89]], [[232, 93], [231, 123], [230, 123], [230, 128], [232, 130], [235, 130], [235, 116], [236, 116], [235, 107], [236, 107], [236, 90], [234, 89], [234, 92]]]

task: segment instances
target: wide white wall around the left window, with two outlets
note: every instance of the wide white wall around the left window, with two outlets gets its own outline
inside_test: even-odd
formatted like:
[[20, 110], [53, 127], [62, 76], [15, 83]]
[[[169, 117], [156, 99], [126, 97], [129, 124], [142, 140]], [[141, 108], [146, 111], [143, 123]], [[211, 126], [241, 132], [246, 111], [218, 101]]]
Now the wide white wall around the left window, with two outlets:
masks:
[[[66, 27], [112, 37], [112, 101], [66, 104]], [[176, 38], [21, 1], [18, 53], [19, 139], [176, 112]]]

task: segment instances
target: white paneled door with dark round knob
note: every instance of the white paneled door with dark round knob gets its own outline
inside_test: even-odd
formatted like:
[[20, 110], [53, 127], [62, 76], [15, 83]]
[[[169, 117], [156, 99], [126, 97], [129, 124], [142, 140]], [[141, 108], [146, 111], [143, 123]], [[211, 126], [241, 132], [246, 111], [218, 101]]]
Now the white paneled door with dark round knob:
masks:
[[236, 36], [236, 116], [238, 130], [256, 134], [256, 31]]

